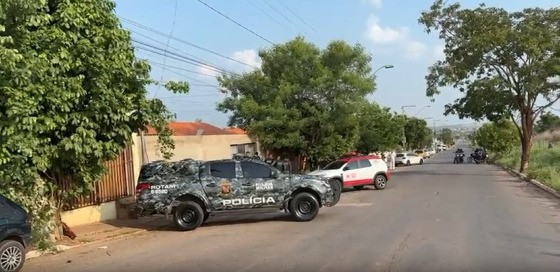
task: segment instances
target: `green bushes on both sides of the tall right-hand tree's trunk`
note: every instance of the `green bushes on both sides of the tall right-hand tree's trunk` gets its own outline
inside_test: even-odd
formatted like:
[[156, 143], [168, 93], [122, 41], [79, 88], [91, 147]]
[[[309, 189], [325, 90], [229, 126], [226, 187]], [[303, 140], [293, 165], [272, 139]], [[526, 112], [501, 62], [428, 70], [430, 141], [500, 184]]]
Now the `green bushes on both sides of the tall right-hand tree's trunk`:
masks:
[[[513, 169], [518, 169], [521, 158], [521, 148], [503, 154], [497, 162]], [[548, 143], [536, 142], [531, 150], [531, 158], [527, 176], [536, 179], [549, 187], [560, 191], [560, 147], [549, 149]]]

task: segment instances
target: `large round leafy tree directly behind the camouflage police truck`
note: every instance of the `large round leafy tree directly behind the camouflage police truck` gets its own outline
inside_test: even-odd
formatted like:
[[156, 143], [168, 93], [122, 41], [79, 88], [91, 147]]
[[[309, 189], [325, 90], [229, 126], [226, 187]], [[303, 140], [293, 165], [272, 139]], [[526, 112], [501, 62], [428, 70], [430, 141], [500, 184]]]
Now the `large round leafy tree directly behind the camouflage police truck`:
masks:
[[218, 106], [229, 124], [263, 147], [331, 160], [358, 140], [358, 108], [375, 88], [371, 57], [360, 45], [333, 41], [321, 50], [302, 37], [259, 52], [262, 67], [224, 75], [229, 96]]

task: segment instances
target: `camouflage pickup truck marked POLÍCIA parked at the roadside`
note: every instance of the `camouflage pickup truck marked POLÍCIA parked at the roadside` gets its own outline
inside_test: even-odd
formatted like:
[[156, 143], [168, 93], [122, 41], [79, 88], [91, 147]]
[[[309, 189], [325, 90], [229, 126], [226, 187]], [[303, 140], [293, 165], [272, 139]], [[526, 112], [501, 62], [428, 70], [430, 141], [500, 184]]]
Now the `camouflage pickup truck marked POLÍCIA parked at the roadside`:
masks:
[[298, 221], [336, 205], [342, 188], [321, 177], [287, 175], [259, 160], [153, 162], [142, 167], [137, 193], [140, 215], [173, 215], [181, 230], [194, 230], [210, 214], [269, 208]]

